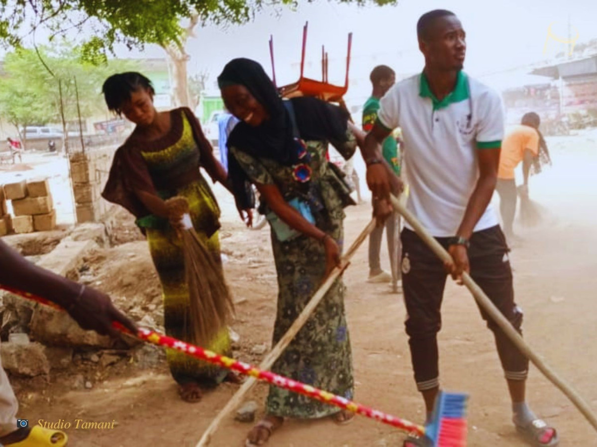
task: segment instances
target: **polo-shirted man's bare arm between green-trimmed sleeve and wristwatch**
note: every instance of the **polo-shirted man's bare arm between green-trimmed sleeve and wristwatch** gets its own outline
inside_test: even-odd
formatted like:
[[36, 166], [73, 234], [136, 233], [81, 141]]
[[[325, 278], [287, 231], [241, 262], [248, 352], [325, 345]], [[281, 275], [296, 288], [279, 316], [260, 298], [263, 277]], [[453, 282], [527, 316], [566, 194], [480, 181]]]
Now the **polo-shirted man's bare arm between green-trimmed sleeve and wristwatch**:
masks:
[[479, 179], [469, 203], [464, 212], [464, 218], [458, 228], [457, 235], [469, 239], [473, 234], [475, 225], [487, 209], [491, 196], [496, 189], [497, 168], [500, 162], [500, 148], [479, 149]]

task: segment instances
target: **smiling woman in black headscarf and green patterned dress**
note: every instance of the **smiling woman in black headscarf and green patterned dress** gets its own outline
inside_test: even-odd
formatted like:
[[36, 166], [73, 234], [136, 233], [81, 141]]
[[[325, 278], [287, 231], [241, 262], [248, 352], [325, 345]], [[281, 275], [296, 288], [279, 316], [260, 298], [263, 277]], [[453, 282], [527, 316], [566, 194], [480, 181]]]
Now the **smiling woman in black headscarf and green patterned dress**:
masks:
[[[354, 204], [339, 170], [325, 157], [328, 142], [349, 159], [364, 134], [348, 124], [339, 107], [316, 98], [282, 101], [263, 68], [235, 59], [218, 78], [226, 107], [242, 121], [229, 136], [229, 179], [242, 206], [247, 182], [259, 190], [272, 226], [278, 272], [278, 312], [273, 343], [284, 335], [340, 262], [343, 208]], [[289, 104], [291, 103], [291, 104]], [[344, 315], [345, 287], [336, 281], [272, 370], [294, 380], [352, 398], [350, 340]], [[346, 423], [351, 412], [270, 387], [266, 417], [245, 445], [263, 445], [284, 418], [331, 416]]]

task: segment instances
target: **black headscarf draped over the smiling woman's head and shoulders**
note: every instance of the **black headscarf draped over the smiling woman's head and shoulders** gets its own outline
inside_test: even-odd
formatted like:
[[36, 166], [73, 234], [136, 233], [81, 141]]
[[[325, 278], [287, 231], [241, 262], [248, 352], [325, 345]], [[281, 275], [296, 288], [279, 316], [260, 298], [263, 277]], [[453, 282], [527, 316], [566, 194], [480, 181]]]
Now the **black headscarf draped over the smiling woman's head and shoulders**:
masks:
[[[218, 76], [218, 84], [220, 89], [229, 85], [245, 86], [269, 114], [269, 119], [257, 127], [239, 122], [228, 137], [229, 148], [235, 147], [253, 157], [272, 159], [285, 166], [298, 163], [290, 114], [259, 63], [246, 58], [233, 59]], [[299, 97], [291, 101], [300, 138], [346, 141], [349, 119], [346, 111], [312, 97]], [[248, 207], [247, 176], [233, 155], [229, 157], [228, 167], [237, 204]]]

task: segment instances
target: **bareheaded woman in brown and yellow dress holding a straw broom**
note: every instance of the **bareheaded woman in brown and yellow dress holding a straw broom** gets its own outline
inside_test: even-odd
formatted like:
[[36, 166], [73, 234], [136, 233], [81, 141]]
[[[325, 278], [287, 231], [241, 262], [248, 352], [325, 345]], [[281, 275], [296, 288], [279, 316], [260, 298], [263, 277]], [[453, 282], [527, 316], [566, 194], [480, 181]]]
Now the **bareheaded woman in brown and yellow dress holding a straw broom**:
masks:
[[[181, 218], [176, 202], [189, 203], [195, 231], [221, 267], [220, 209], [199, 167], [213, 181], [226, 182], [226, 171], [213, 156], [201, 125], [186, 107], [158, 112], [153, 106], [153, 87], [140, 73], [110, 76], [103, 85], [109, 110], [124, 114], [136, 124], [133, 133], [115, 153], [109, 179], [102, 193], [136, 217], [149, 242], [164, 298], [164, 326], [169, 336], [189, 340], [189, 289], [184, 277], [184, 257], [177, 233]], [[210, 343], [210, 349], [229, 353], [228, 329]], [[225, 370], [190, 358], [176, 350], [167, 351], [168, 365], [179, 384], [182, 399], [197, 402], [201, 387], [232, 379]]]

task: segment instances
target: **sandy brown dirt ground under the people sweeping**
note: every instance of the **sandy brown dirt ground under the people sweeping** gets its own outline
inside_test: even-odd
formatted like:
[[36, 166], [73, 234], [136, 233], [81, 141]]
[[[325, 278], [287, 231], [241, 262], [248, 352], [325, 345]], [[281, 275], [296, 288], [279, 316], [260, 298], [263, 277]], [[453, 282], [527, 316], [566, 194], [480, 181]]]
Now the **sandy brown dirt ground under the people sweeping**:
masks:
[[[512, 253], [515, 291], [524, 309], [528, 342], [597, 411], [597, 132], [550, 138], [554, 166], [531, 179], [531, 196], [546, 207], [549, 218], [538, 228], [518, 228], [524, 240]], [[276, 309], [276, 275], [269, 230], [242, 227], [223, 191], [216, 190], [224, 208], [221, 243], [227, 255], [226, 278], [237, 302], [233, 329], [240, 336], [235, 356], [259, 363], [251, 353], [260, 343], [270, 346]], [[347, 210], [346, 241], [352, 241], [370, 218], [370, 207]], [[160, 291], [146, 243], [123, 221], [124, 242], [98, 250], [89, 259], [84, 280], [113, 295], [122, 309], [137, 319], [159, 315]], [[386, 254], [383, 255], [387, 259]], [[387, 264], [387, 260], [386, 260]], [[344, 275], [346, 305], [355, 363], [356, 401], [413, 421], [423, 418], [404, 334], [402, 296], [387, 293], [386, 285], [366, 283], [366, 244]], [[439, 335], [441, 378], [445, 389], [470, 393], [470, 446], [524, 446], [510, 423], [510, 403], [493, 337], [485, 328], [475, 302], [463, 287], [448, 281]], [[155, 318], [156, 327], [162, 324]], [[162, 358], [153, 368], [133, 368], [127, 355], [112, 367], [75, 362], [50, 383], [14, 379], [20, 418], [46, 421], [112, 422], [113, 429], [66, 430], [73, 446], [194, 446], [203, 430], [236, 390], [224, 384], [208, 392], [200, 403], [185, 403]], [[69, 385], [79, 371], [93, 378], [93, 388]], [[267, 387], [260, 384], [249, 399], [260, 403]], [[531, 368], [528, 401], [559, 430], [562, 446], [595, 446], [597, 437], [574, 406], [536, 368]], [[244, 445], [249, 424], [226, 420], [214, 437], [214, 447]], [[347, 426], [330, 420], [290, 421], [268, 445], [398, 446], [404, 435], [392, 427], [356, 417]]]

